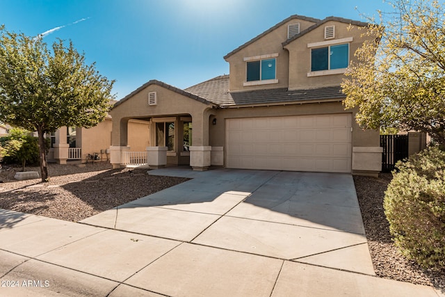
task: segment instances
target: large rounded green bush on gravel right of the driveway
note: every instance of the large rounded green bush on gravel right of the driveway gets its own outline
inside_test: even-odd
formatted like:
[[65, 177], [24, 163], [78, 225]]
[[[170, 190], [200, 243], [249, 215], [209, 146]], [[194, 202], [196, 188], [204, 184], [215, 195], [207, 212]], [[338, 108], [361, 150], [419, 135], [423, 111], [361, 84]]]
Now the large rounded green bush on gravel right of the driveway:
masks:
[[445, 152], [429, 147], [396, 168], [384, 200], [394, 243], [423, 268], [440, 270], [445, 267]]

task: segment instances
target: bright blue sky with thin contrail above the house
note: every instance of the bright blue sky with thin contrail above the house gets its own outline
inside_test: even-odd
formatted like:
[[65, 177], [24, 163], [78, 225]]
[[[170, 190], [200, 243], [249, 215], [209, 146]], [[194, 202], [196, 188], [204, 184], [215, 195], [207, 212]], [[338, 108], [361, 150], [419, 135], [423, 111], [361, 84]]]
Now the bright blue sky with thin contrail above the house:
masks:
[[290, 15], [364, 21], [360, 13], [389, 8], [382, 0], [0, 0], [0, 24], [47, 32], [48, 45], [72, 40], [122, 99], [150, 79], [187, 88], [228, 74], [223, 56]]

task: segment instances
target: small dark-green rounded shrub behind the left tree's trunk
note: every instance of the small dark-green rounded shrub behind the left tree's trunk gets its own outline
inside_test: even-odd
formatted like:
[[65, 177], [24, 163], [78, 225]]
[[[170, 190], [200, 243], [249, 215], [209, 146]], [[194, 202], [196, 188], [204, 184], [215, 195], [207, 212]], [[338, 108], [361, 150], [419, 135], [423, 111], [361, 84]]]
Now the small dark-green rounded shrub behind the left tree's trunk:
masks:
[[8, 136], [0, 138], [0, 156], [6, 161], [19, 161], [22, 171], [26, 163], [36, 163], [39, 159], [38, 139], [25, 129], [13, 128]]

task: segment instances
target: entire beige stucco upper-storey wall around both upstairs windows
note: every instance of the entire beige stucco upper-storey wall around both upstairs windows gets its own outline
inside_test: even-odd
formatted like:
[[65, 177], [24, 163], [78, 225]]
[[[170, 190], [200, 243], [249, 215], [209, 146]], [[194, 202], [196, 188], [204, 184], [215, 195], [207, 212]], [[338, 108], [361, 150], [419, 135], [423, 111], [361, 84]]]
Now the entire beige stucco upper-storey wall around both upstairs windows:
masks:
[[[353, 38], [349, 43], [349, 59], [354, 60], [354, 53], [360, 47], [365, 37], [364, 27], [346, 24], [343, 22], [329, 21], [321, 24], [316, 29], [293, 40], [289, 45], [282, 47], [282, 42], [287, 39], [287, 28], [289, 24], [300, 22], [300, 32], [312, 26], [314, 23], [292, 20], [283, 24], [275, 31], [264, 35], [259, 40], [229, 56], [226, 61], [230, 64], [230, 90], [261, 90], [265, 88], [319, 88], [325, 86], [339, 86], [343, 79], [343, 74], [329, 74], [316, 77], [308, 77], [311, 70], [311, 49], [308, 44], [314, 42], [337, 42], [343, 38]], [[335, 26], [335, 38], [325, 40], [325, 26]], [[341, 44], [339, 43], [339, 44]], [[246, 62], [245, 57], [261, 56], [266, 54], [278, 54], [276, 65], [276, 78], [278, 83], [270, 83], [259, 86], [243, 86], [246, 81]]]

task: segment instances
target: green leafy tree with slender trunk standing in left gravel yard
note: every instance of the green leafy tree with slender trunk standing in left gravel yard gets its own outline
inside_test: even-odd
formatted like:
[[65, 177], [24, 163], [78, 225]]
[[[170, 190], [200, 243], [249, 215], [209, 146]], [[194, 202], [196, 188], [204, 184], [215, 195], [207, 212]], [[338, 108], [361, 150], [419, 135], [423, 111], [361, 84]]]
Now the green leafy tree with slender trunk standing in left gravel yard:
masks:
[[38, 132], [42, 181], [49, 178], [44, 134], [59, 127], [94, 127], [104, 120], [114, 81], [86, 65], [63, 40], [52, 51], [41, 36], [0, 26], [0, 121]]

